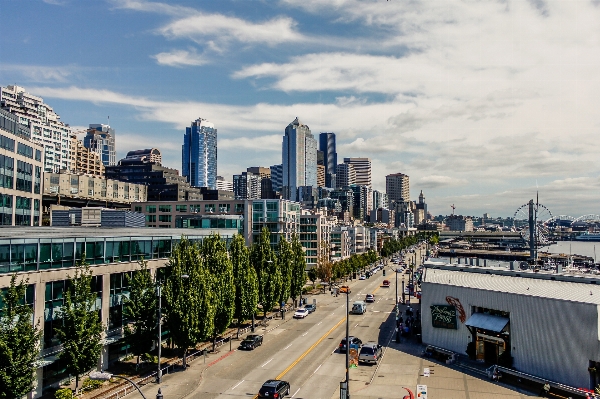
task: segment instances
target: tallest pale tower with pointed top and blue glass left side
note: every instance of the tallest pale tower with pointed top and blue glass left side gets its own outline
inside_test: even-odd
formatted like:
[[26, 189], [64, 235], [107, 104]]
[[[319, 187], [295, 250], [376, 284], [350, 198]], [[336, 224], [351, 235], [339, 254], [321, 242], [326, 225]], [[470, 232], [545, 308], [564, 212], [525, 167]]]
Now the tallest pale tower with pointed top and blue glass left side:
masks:
[[282, 160], [285, 199], [298, 201], [298, 187], [317, 187], [317, 140], [298, 118], [285, 128]]

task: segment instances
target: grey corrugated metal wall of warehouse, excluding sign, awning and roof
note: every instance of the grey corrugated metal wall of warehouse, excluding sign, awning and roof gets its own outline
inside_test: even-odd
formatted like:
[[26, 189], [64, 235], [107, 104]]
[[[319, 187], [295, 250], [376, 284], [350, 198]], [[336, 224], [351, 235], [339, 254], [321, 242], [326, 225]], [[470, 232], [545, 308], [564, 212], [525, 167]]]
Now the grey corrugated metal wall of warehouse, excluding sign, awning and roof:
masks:
[[473, 306], [510, 313], [511, 350], [517, 370], [588, 387], [589, 360], [600, 361], [597, 305], [428, 282], [423, 282], [422, 291], [424, 343], [466, 356], [471, 333], [464, 323], [458, 320], [457, 330], [431, 326], [430, 306], [447, 305], [446, 297], [452, 296], [460, 300], [466, 320]]

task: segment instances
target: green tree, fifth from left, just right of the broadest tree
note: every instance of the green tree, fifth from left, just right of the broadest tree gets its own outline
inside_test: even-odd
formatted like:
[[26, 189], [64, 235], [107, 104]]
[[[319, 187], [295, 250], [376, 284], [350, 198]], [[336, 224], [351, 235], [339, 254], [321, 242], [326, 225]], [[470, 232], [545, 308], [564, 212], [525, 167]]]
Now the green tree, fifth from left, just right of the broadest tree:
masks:
[[227, 246], [218, 234], [211, 234], [202, 241], [201, 253], [211, 278], [216, 308], [213, 329], [214, 351], [217, 335], [222, 334], [229, 327], [235, 310], [233, 265], [227, 254]]

